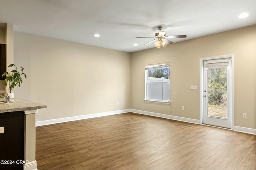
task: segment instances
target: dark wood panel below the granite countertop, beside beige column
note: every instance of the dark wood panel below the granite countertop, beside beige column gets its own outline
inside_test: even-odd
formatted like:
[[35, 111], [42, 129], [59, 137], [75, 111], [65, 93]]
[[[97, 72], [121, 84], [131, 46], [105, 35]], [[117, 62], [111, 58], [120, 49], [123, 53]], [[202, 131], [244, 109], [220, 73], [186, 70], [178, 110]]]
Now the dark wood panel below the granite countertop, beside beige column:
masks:
[[13, 161], [1, 162], [0, 170], [22, 170], [19, 161], [24, 160], [24, 111], [0, 113], [0, 127], [4, 127], [4, 133], [0, 133], [0, 160]]

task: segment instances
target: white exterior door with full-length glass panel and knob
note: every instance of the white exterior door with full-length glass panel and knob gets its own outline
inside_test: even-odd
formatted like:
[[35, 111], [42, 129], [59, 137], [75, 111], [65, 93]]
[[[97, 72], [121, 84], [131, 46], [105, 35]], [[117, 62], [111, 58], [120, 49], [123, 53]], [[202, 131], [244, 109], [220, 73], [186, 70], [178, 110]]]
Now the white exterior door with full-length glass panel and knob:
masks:
[[207, 60], [203, 68], [203, 124], [231, 128], [231, 59]]

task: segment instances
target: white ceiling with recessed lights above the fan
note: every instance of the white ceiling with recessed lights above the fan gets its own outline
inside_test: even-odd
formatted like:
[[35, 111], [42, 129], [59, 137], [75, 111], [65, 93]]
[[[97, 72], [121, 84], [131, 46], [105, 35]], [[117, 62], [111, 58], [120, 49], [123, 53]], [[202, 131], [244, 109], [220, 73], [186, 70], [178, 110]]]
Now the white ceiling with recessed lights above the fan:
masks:
[[[244, 19], [238, 18], [248, 12]], [[0, 0], [0, 23], [14, 31], [134, 52], [157, 26], [178, 42], [256, 24], [256, 0]], [[94, 34], [100, 37], [94, 37]], [[137, 43], [138, 46], [133, 46]]]

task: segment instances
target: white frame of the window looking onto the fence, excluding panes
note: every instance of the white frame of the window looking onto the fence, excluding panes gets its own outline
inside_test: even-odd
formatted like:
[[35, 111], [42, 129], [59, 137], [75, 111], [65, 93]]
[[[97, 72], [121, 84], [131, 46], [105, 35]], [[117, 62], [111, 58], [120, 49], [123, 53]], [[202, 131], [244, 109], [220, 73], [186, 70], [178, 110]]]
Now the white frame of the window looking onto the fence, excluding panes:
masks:
[[[160, 69], [160, 68], [169, 68], [170, 69], [170, 63], [161, 63], [161, 64], [152, 64], [152, 65], [146, 65], [145, 66], [145, 102], [153, 102], [153, 103], [162, 103], [162, 104], [170, 104], [170, 81], [169, 82], [160, 82], [161, 84], [168, 84], [168, 97], [169, 100], [156, 100], [156, 99], [148, 99], [148, 84], [156, 84], [158, 82], [148, 82], [148, 70], [151, 69]], [[170, 76], [170, 73], [169, 73]]]

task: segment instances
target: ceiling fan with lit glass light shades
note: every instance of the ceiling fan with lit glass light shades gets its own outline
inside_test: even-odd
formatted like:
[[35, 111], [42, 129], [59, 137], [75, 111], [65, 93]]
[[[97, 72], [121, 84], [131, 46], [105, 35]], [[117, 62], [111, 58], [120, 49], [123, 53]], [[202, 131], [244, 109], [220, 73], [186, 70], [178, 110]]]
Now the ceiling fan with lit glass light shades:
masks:
[[[155, 33], [155, 36], [154, 37], [136, 37], [136, 38], [155, 38], [153, 39], [152, 41], [149, 41], [148, 43], [146, 44], [149, 44], [149, 43], [152, 43], [152, 42], [155, 42], [155, 46], [157, 48], [160, 48], [161, 45], [163, 47], [165, 47], [167, 44], [172, 44], [173, 42], [168, 40], [169, 38], [186, 38], [187, 35], [172, 35], [172, 36], [166, 36], [165, 35], [165, 32], [164, 31], [161, 31], [163, 29], [163, 27], [157, 27], [159, 29], [159, 32], [158, 33]], [[144, 45], [146, 45], [144, 44]]]

